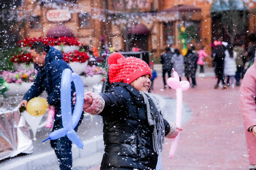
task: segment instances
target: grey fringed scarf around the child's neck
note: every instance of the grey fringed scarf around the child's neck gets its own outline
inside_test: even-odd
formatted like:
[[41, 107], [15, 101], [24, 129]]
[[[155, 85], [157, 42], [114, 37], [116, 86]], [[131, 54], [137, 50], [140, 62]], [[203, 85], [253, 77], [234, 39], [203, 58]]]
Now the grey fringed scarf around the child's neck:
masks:
[[149, 126], [153, 128], [153, 147], [157, 154], [162, 151], [162, 144], [165, 138], [165, 126], [161, 113], [161, 109], [150, 93], [140, 92], [143, 95], [144, 102], [147, 105], [147, 121]]

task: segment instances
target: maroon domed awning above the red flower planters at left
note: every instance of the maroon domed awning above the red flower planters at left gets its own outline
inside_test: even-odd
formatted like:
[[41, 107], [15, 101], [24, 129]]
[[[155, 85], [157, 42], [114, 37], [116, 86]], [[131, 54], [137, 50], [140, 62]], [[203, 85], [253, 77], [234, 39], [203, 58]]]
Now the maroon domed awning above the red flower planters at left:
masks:
[[68, 36], [74, 37], [74, 33], [64, 25], [56, 25], [53, 28], [50, 28], [46, 33], [46, 37], [60, 37], [60, 36]]

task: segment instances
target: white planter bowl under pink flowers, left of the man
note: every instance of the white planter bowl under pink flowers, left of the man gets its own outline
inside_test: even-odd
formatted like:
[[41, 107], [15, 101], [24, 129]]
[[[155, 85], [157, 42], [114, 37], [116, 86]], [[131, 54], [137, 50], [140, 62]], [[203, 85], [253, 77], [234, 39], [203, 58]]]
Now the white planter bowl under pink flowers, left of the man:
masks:
[[4, 92], [4, 94], [9, 97], [9, 96], [20, 96], [24, 95], [27, 90], [30, 89], [30, 87], [33, 85], [33, 82], [31, 83], [21, 83], [21, 84], [16, 84], [16, 83], [8, 83], [8, 91]]

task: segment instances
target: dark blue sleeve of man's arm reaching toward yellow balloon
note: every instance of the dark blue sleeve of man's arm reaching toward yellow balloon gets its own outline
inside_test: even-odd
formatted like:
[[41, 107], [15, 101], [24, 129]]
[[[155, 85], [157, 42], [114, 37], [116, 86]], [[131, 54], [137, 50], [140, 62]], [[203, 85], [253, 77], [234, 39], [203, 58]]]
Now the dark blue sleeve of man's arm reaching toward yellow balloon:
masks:
[[43, 83], [42, 83], [44, 80], [44, 76], [45, 74], [38, 72], [38, 75], [34, 80], [33, 85], [24, 95], [23, 97], [24, 100], [29, 101], [31, 98], [39, 96], [45, 90], [45, 87], [43, 87]]

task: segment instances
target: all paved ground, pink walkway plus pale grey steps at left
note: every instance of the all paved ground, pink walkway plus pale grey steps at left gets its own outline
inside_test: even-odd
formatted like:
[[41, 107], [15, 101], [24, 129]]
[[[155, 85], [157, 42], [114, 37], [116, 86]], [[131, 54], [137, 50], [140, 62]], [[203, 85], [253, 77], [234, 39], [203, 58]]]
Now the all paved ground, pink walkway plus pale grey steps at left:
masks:
[[[175, 90], [163, 89], [161, 67], [157, 65], [156, 68], [158, 78], [155, 80], [152, 93], [160, 95], [159, 98], [162, 99], [160, 105], [165, 106], [163, 108], [165, 116], [168, 117], [167, 119], [174, 120], [174, 115], [168, 114], [168, 111], [174, 112]], [[197, 77], [196, 88], [183, 92], [184, 130], [181, 132], [177, 152], [172, 159], [168, 156], [170, 140], [166, 139], [162, 152], [163, 170], [248, 169], [244, 127], [239, 110], [239, 87], [215, 90], [214, 85], [217, 80], [212, 68], [207, 67], [205, 75], [205, 78]], [[182, 79], [185, 80], [184, 77]], [[85, 137], [83, 140], [87, 143], [83, 151], [73, 147], [75, 149], [73, 150], [74, 170], [99, 170], [103, 154], [102, 138], [99, 134], [102, 131], [100, 123], [100, 118], [94, 117], [90, 122], [90, 117], [87, 117], [83, 127], [79, 128], [79, 135]], [[98, 126], [97, 130], [90, 128], [95, 125]], [[83, 131], [83, 129], [89, 129], [89, 131]], [[43, 132], [42, 136], [41, 138], [45, 138]], [[87, 140], [86, 136], [93, 138]], [[100, 147], [94, 145], [96, 142]], [[29, 170], [43, 168], [58, 170], [56, 157], [51, 152], [51, 148], [46, 147], [47, 152], [44, 152], [45, 147], [41, 146], [36, 147], [37, 154], [1, 161], [0, 169], [25, 169], [17, 164], [27, 161]], [[43, 155], [44, 157], [40, 157]]]

